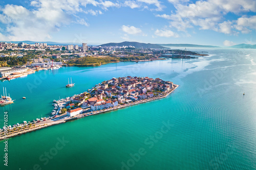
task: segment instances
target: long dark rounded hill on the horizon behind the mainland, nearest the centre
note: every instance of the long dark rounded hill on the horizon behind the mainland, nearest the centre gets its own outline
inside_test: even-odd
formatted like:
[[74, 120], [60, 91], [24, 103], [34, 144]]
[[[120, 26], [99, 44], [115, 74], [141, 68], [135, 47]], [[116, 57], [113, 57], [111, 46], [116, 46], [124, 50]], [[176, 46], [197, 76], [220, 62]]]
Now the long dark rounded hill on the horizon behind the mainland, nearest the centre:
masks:
[[158, 44], [151, 44], [151, 43], [140, 43], [140, 42], [129, 42], [129, 41], [124, 41], [124, 42], [119, 42], [119, 43], [106, 43], [102, 44], [100, 46], [134, 46], [135, 48], [166, 48]]

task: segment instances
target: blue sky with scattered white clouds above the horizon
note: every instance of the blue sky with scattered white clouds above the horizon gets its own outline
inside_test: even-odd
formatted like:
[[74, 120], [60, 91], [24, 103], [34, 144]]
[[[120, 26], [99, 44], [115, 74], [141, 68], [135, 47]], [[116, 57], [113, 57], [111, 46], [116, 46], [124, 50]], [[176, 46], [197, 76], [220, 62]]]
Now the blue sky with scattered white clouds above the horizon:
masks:
[[255, 0], [4, 0], [0, 41], [256, 44]]

